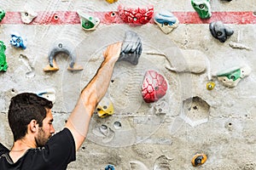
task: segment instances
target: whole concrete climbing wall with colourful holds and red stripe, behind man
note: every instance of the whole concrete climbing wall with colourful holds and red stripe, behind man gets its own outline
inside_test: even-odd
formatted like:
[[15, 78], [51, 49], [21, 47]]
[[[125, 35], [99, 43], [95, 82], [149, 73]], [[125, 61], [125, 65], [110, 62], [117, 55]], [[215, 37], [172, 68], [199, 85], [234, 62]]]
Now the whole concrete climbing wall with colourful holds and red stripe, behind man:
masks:
[[13, 144], [22, 92], [55, 102], [60, 131], [102, 52], [132, 31], [142, 54], [115, 65], [68, 169], [255, 169], [253, 1], [1, 1], [0, 142]]

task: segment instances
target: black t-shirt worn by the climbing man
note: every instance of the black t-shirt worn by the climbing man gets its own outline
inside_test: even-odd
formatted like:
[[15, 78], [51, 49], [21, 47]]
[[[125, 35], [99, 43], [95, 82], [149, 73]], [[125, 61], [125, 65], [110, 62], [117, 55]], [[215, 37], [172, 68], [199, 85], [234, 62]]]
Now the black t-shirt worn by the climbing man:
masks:
[[0, 144], [1, 170], [64, 170], [75, 159], [73, 135], [67, 128], [51, 137], [44, 148], [27, 150], [15, 163], [9, 150]]

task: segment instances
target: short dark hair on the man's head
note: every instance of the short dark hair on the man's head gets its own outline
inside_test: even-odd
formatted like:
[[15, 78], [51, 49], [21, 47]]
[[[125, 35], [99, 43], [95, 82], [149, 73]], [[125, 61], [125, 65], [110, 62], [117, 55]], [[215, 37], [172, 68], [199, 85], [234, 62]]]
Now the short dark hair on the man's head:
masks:
[[8, 121], [15, 141], [26, 135], [27, 125], [32, 120], [36, 120], [39, 127], [42, 127], [46, 110], [51, 109], [52, 106], [51, 101], [37, 94], [23, 93], [13, 97], [9, 105]]

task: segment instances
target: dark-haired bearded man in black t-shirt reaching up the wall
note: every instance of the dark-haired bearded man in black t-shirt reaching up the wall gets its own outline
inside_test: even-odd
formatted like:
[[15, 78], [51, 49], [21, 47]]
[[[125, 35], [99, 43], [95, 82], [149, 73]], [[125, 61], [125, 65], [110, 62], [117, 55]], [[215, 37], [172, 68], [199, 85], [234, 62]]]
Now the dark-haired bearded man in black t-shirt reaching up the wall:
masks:
[[29, 93], [12, 98], [8, 118], [15, 143], [11, 150], [0, 144], [0, 169], [62, 170], [75, 161], [76, 150], [84, 142], [96, 105], [108, 90], [120, 50], [121, 42], [108, 46], [102, 65], [82, 90], [66, 126], [53, 137], [49, 100]]

